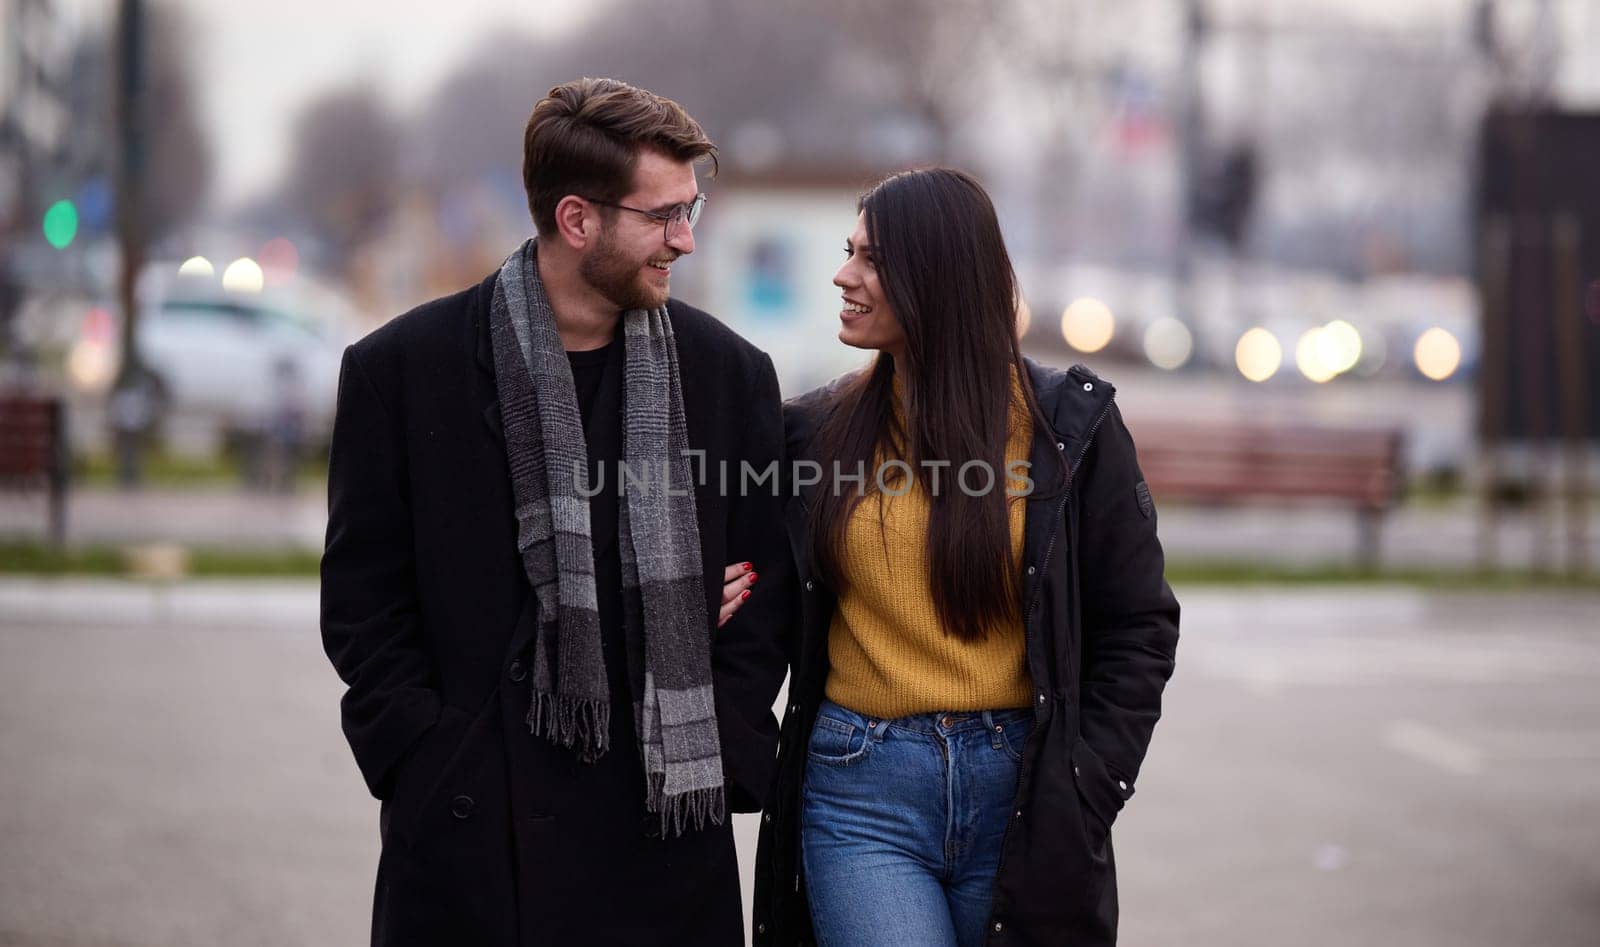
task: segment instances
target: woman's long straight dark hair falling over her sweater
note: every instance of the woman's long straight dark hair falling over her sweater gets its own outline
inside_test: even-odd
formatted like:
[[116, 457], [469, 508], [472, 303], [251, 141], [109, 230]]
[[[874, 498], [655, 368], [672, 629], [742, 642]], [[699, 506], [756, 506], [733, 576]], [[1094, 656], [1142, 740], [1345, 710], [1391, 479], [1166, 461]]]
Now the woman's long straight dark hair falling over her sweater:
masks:
[[[1013, 373], [1022, 379], [1035, 430], [1046, 430], [1018, 344], [1016, 272], [994, 205], [970, 174], [904, 171], [872, 187], [858, 206], [883, 296], [906, 331], [906, 365], [878, 354], [829, 403], [816, 437], [824, 472], [811, 509], [816, 568], [834, 587], [848, 585], [840, 549], [862, 496], [840, 489], [835, 469], [848, 475], [864, 466], [872, 489], [877, 459], [899, 458], [931, 493], [923, 461], [949, 461], [928, 517], [930, 587], [944, 629], [976, 641], [1021, 613], [1005, 491]], [[904, 427], [894, 414], [896, 374]], [[994, 489], [970, 496], [958, 488], [957, 472], [970, 461], [989, 464]], [[882, 517], [882, 494], [878, 502]]]

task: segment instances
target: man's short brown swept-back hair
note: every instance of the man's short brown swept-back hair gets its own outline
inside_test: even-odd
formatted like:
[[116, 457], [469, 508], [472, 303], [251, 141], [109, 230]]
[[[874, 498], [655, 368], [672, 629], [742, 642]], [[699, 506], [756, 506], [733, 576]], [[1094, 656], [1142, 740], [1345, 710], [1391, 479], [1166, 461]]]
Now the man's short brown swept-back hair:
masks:
[[683, 106], [616, 78], [578, 78], [550, 90], [522, 136], [522, 182], [541, 235], [555, 232], [555, 205], [568, 194], [616, 202], [634, 187], [640, 149], [678, 162], [717, 146]]

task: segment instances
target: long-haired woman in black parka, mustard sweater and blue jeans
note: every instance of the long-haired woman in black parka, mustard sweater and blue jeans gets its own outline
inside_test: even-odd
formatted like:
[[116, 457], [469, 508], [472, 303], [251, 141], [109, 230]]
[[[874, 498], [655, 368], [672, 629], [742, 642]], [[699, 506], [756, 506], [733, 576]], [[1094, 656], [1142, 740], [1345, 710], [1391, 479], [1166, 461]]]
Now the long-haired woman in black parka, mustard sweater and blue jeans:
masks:
[[1114, 944], [1178, 641], [1133, 442], [1109, 384], [1022, 358], [976, 181], [859, 210], [840, 341], [878, 355], [786, 408], [802, 637], [755, 942]]

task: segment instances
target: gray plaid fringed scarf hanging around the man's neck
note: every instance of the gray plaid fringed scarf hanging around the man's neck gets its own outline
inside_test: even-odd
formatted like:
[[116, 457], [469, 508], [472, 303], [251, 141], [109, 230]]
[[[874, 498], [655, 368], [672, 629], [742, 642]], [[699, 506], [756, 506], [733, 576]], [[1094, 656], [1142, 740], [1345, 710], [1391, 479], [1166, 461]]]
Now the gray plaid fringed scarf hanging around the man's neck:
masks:
[[[501, 266], [490, 338], [517, 549], [539, 601], [528, 726], [594, 761], [610, 749], [611, 702], [589, 533], [589, 446], [531, 238]], [[688, 429], [666, 307], [624, 312], [622, 344], [622, 464], [645, 480], [619, 475], [618, 483], [629, 683], [645, 805], [661, 816], [664, 837], [682, 835], [690, 822], [722, 824], [725, 803]]]

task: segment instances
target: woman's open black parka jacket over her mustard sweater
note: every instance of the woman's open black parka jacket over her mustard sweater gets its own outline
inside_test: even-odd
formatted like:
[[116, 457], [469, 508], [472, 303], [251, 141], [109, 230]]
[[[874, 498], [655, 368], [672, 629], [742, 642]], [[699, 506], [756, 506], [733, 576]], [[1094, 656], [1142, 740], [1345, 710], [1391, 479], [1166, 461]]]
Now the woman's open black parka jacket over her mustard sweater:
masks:
[[[1022, 753], [989, 918], [989, 944], [1099, 947], [1117, 941], [1110, 824], [1133, 795], [1178, 648], [1155, 509], [1114, 389], [1091, 371], [1027, 363], [1050, 421], [1030, 451], [1022, 609], [1035, 726]], [[786, 405], [787, 456], [811, 458], [824, 392]], [[1070, 470], [1066, 489], [1062, 464]], [[814, 488], [813, 488], [814, 489]], [[837, 598], [811, 574], [808, 496], [789, 504], [802, 630], [778, 779], [762, 816], [754, 942], [813, 942], [800, 862], [800, 785], [827, 681]]]

